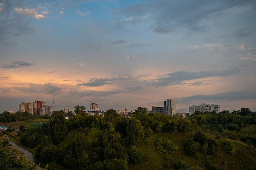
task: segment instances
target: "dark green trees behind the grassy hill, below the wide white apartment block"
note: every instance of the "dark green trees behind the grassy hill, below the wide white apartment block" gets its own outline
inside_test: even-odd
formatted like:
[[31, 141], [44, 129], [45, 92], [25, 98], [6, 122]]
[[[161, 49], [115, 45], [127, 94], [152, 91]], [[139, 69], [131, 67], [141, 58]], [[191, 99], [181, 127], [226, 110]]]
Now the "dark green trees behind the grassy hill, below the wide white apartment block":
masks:
[[200, 126], [220, 132], [224, 137], [240, 140], [256, 147], [256, 132], [246, 133], [243, 131], [248, 125], [256, 124], [256, 113], [249, 108], [241, 108], [241, 110], [234, 110], [231, 113], [224, 110], [218, 114], [194, 114], [190, 119], [195, 119]]

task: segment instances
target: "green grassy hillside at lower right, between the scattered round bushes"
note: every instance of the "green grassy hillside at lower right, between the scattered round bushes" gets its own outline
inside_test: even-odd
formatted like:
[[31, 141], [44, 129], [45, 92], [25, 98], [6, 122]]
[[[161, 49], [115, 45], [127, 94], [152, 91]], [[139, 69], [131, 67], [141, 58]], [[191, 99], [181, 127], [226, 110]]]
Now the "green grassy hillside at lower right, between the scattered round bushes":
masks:
[[[219, 138], [211, 134], [207, 137], [217, 141], [217, 149], [214, 155], [202, 152], [202, 146], [195, 155], [187, 155], [184, 151], [186, 140], [190, 133], [173, 134], [159, 133], [147, 137], [139, 144], [143, 151], [143, 160], [138, 164], [131, 164], [130, 170], [176, 170], [177, 166], [198, 170], [252, 170], [256, 168], [256, 149], [239, 141]], [[170, 139], [178, 150], [174, 152], [161, 152], [157, 149], [156, 142], [159, 139]], [[230, 155], [224, 150], [225, 141], [230, 141], [236, 150], [236, 154]]]

